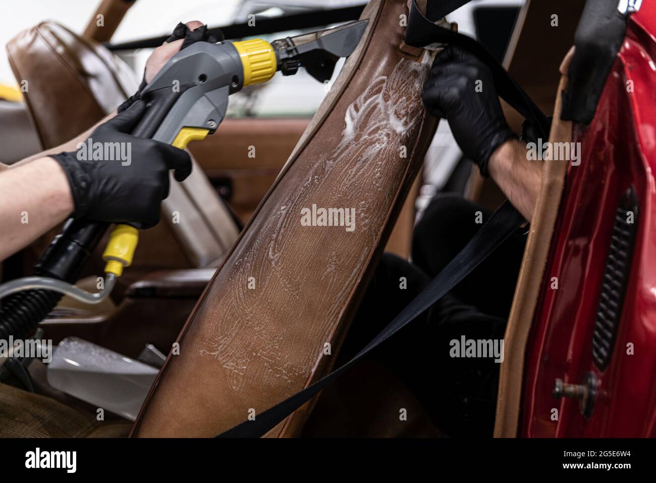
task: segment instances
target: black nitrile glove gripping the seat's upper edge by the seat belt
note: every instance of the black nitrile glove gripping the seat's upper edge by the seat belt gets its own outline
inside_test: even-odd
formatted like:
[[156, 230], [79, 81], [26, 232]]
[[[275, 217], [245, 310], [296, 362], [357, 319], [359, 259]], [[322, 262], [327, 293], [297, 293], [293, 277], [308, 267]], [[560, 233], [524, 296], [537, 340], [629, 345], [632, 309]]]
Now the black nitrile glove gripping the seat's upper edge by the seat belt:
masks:
[[430, 114], [449, 121], [462, 153], [483, 176], [491, 154], [508, 139], [517, 139], [503, 116], [489, 68], [459, 47], [436, 55], [422, 101]]

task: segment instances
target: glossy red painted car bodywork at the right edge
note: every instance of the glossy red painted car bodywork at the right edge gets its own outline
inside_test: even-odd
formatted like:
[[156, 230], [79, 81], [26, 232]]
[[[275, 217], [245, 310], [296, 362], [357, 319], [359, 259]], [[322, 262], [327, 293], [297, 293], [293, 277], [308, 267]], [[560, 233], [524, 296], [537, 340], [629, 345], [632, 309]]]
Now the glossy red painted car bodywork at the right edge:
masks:
[[[656, 436], [654, 32], [655, 3], [643, 2], [628, 22], [594, 120], [588, 127], [575, 126], [581, 164], [569, 167], [527, 346], [522, 436]], [[627, 216], [618, 206], [628, 190], [637, 204], [630, 209], [634, 225], [623, 225], [634, 230], [629, 242], [613, 231], [616, 218]], [[624, 289], [618, 283], [621, 270], [604, 279], [607, 265], [621, 268], [617, 247], [632, 252]], [[550, 288], [552, 277], [558, 278], [558, 289]], [[602, 289], [604, 281], [609, 286]], [[623, 304], [616, 308], [613, 298], [607, 299], [609, 290], [625, 290]], [[600, 302], [605, 314], [621, 314], [605, 367], [592, 356]], [[588, 375], [596, 382], [594, 407], [586, 417], [578, 400], [556, 399], [553, 390], [556, 379], [583, 384]]]

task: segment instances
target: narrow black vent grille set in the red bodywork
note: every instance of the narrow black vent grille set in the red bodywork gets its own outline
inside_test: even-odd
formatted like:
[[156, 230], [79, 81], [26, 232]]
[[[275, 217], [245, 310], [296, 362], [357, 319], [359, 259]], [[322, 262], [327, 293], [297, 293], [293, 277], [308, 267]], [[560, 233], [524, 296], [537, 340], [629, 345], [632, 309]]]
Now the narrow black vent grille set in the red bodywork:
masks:
[[637, 226], [638, 198], [634, 187], [630, 187], [617, 206], [592, 335], [592, 359], [602, 371], [608, 366], [613, 354], [617, 327], [622, 317]]

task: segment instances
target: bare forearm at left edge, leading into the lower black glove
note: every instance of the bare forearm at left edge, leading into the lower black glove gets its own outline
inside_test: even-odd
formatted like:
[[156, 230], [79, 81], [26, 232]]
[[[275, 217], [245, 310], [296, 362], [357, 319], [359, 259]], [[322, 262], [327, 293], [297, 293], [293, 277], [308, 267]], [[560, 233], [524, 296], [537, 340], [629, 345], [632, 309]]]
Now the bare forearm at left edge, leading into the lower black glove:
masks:
[[0, 261], [68, 218], [73, 198], [52, 158], [0, 173]]

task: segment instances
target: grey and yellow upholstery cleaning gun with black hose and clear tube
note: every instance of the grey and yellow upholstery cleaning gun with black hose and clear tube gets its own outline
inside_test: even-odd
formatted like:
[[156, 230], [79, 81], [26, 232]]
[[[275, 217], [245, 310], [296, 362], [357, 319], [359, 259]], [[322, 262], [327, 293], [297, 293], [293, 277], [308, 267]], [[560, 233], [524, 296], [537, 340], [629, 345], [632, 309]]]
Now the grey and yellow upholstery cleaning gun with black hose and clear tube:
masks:
[[[296, 74], [299, 66], [321, 82], [330, 80], [340, 57], [358, 46], [368, 20], [350, 22], [271, 43], [262, 39], [197, 42], [178, 52], [139, 93], [146, 113], [133, 135], [150, 137], [185, 149], [190, 141], [216, 131], [228, 107], [228, 97], [247, 85], [270, 80], [276, 71]], [[138, 229], [117, 225], [103, 260], [107, 262], [104, 288], [96, 294], [72, 285], [108, 223], [68, 219], [62, 232], [35, 266], [35, 277], [0, 285], [0, 338], [25, 336], [56, 306], [62, 294], [90, 304], [110, 294], [115, 278], [132, 263]]]

